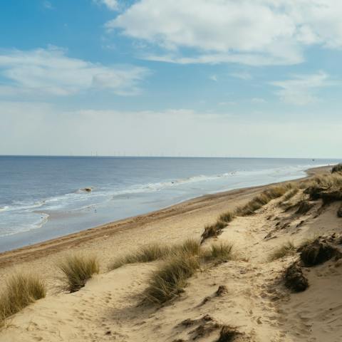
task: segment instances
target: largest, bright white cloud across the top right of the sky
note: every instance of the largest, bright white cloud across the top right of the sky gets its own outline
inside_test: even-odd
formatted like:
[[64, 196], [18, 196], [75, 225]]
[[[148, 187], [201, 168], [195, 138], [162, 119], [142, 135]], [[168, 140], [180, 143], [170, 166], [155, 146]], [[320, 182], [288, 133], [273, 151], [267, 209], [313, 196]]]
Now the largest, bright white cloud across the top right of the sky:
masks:
[[341, 16], [336, 0], [141, 0], [105, 26], [166, 51], [153, 61], [286, 65], [342, 47]]

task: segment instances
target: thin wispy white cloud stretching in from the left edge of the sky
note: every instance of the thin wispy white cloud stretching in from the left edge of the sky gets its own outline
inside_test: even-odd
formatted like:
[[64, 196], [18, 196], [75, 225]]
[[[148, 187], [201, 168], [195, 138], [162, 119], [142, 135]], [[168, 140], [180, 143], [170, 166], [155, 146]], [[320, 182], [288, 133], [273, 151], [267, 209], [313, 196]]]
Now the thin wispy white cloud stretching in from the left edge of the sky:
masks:
[[66, 56], [61, 48], [0, 52], [0, 75], [6, 86], [0, 95], [71, 95], [90, 89], [105, 89], [117, 95], [139, 93], [145, 68], [103, 66]]

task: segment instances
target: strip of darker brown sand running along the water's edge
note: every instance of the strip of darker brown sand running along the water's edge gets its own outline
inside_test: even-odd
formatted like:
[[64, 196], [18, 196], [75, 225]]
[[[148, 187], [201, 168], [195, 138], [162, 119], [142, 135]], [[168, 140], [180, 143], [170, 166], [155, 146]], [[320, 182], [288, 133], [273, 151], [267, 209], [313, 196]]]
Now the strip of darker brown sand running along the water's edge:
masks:
[[[331, 165], [323, 167], [314, 167], [306, 170], [306, 177], [301, 177], [296, 180], [288, 180], [285, 182], [298, 182], [300, 180], [312, 177], [320, 172], [326, 172]], [[173, 204], [163, 209], [148, 212], [147, 214], [140, 214], [134, 217], [128, 217], [126, 219], [120, 219], [114, 222], [108, 222], [97, 227], [92, 227], [80, 232], [63, 235], [54, 239], [48, 239], [44, 242], [38, 242], [36, 244], [30, 244], [18, 249], [11, 249], [6, 252], [0, 253], [0, 266], [6, 268], [7, 266], [13, 266], [15, 264], [21, 264], [21, 262], [32, 261], [48, 257], [54, 254], [65, 252], [69, 249], [82, 249], [83, 247], [91, 247], [92, 244], [100, 242], [101, 239], [111, 239], [116, 234], [125, 232], [129, 234], [134, 229], [144, 229], [144, 227], [163, 223], [166, 220], [175, 219], [182, 215], [191, 214], [193, 212], [208, 211], [212, 209], [212, 212], [219, 212], [222, 206], [234, 206], [247, 202], [250, 197], [257, 195], [257, 193], [264, 190], [264, 188], [270, 185], [281, 184], [283, 182], [270, 183], [268, 185], [259, 185], [256, 187], [239, 188], [235, 190], [229, 190], [225, 192], [217, 192], [211, 195], [202, 195], [193, 199], [186, 200], [177, 204]], [[210, 218], [210, 217], [208, 217]], [[181, 219], [181, 218], [180, 218]], [[199, 230], [202, 231], [204, 224]]]

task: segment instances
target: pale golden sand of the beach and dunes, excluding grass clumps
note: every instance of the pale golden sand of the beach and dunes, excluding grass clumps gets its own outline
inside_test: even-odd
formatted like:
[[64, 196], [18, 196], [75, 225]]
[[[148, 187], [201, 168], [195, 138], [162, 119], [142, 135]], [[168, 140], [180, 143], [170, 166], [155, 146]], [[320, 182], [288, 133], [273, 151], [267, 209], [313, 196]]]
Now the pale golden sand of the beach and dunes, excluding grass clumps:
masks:
[[[213, 322], [235, 326], [244, 333], [234, 341], [342, 341], [341, 264], [329, 261], [305, 269], [309, 289], [291, 294], [284, 287], [282, 274], [295, 257], [268, 259], [276, 247], [289, 240], [299, 244], [317, 234], [342, 233], [337, 204], [318, 216], [317, 206], [305, 215], [296, 215], [284, 212], [279, 200], [274, 200], [251, 217], [237, 217], [217, 238], [234, 244], [237, 259], [204, 268], [190, 279], [185, 293], [159, 309], [138, 306], [157, 262], [106, 271], [110, 260], [142, 244], [199, 238], [205, 224], [263, 189], [200, 197], [0, 254], [1, 279], [16, 269], [32, 269], [46, 276], [49, 289], [46, 299], [9, 320], [0, 332], [0, 341], [217, 341], [219, 328], [210, 329]], [[210, 242], [212, 239], [205, 244]], [[97, 254], [103, 273], [74, 294], [58, 293], [56, 260], [75, 250]], [[216, 296], [220, 285], [227, 287], [227, 293]], [[205, 315], [212, 321], [203, 319]], [[188, 318], [193, 320], [190, 326], [180, 324]]]

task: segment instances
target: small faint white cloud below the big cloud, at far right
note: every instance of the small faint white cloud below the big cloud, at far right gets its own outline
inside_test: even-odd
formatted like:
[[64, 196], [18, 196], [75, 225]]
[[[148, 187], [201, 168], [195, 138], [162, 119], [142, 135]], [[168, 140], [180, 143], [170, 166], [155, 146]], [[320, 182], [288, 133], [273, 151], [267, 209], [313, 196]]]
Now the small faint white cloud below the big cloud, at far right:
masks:
[[281, 88], [276, 94], [282, 101], [294, 105], [308, 105], [317, 102], [316, 90], [333, 84], [328, 74], [323, 71], [312, 75], [296, 75], [286, 81], [271, 83], [271, 85]]

